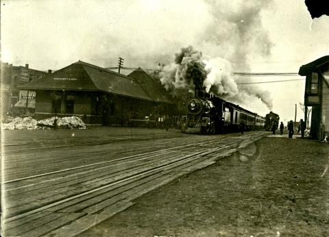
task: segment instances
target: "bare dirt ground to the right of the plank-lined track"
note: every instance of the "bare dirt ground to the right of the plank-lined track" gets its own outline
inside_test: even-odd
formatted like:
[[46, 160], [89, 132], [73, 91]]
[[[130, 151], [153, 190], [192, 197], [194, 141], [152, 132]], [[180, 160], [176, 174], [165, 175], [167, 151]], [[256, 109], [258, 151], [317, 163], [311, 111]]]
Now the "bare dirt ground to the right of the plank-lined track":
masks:
[[329, 236], [329, 145], [267, 137], [80, 236]]

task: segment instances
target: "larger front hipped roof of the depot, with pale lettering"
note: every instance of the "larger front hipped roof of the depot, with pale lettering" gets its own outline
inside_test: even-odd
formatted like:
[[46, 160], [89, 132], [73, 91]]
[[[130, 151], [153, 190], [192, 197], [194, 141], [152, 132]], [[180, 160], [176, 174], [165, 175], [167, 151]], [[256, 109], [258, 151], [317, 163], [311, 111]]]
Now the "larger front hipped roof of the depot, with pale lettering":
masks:
[[153, 101], [136, 82], [136, 79], [82, 61], [23, 84], [19, 88], [27, 90], [103, 91]]

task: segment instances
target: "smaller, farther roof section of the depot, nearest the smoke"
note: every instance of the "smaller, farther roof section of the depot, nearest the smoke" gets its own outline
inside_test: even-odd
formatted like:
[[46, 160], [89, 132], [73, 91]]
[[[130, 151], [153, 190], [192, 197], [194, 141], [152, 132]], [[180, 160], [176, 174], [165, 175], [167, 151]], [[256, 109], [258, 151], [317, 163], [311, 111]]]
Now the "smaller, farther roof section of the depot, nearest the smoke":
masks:
[[144, 92], [154, 101], [173, 103], [171, 95], [169, 95], [169, 92], [162, 87], [160, 81], [157, 81], [154, 77], [151, 77], [142, 68], [137, 68], [130, 73], [128, 77], [136, 79], [141, 88], [143, 88]]

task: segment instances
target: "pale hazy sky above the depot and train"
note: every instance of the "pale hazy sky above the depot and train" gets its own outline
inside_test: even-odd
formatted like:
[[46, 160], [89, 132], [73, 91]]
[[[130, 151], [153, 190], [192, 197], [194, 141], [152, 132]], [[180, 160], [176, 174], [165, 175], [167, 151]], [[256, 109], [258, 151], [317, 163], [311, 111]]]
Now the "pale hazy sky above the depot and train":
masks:
[[[47, 71], [78, 60], [117, 66], [122, 57], [127, 67], [158, 68], [192, 46], [226, 99], [284, 123], [296, 104], [304, 118], [304, 77], [232, 73], [297, 73], [329, 55], [328, 32], [329, 16], [312, 20], [302, 0], [1, 1], [3, 62]], [[239, 85], [287, 79], [300, 80]]]

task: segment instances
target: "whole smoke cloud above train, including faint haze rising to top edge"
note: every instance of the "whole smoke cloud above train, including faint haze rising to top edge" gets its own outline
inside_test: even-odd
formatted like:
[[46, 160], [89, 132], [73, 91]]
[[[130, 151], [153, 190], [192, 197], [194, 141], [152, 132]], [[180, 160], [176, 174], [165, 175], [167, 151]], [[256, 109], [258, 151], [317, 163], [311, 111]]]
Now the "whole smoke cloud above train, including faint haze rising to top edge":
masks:
[[[207, 92], [249, 110], [260, 103], [272, 110], [273, 99], [267, 90], [256, 84], [239, 85], [235, 80], [238, 78], [232, 73], [252, 71], [249, 62], [263, 60], [271, 54], [273, 43], [261, 21], [262, 10], [268, 8], [271, 1], [235, 0], [228, 3], [225, 0], [208, 0], [206, 4], [211, 21], [197, 36], [195, 43], [206, 54], [202, 55], [193, 47], [182, 48], [180, 53], [175, 53], [175, 63], [163, 68], [162, 84], [175, 97], [182, 95], [181, 98], [186, 98], [193, 95], [196, 85], [202, 83]], [[191, 59], [197, 66], [190, 63]], [[183, 60], [186, 64], [182, 65]], [[202, 75], [199, 82], [193, 81], [198, 77], [186, 75], [186, 66], [199, 70], [199, 75]], [[192, 74], [197, 75], [195, 71]], [[252, 82], [252, 78], [243, 77], [243, 82]]]

